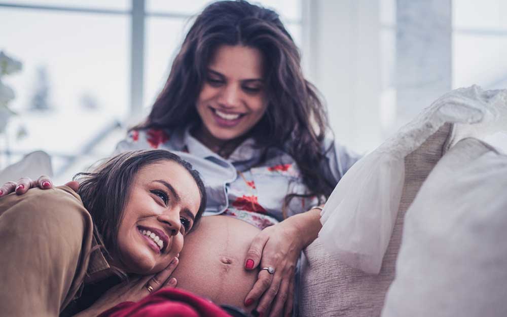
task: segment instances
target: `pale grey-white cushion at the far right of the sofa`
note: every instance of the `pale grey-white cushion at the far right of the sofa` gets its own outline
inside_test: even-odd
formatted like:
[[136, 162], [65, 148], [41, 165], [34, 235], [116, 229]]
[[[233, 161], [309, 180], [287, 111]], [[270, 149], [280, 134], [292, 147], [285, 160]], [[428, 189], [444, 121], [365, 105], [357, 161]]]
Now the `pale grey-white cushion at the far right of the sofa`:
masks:
[[507, 156], [454, 146], [405, 218], [383, 317], [507, 316]]

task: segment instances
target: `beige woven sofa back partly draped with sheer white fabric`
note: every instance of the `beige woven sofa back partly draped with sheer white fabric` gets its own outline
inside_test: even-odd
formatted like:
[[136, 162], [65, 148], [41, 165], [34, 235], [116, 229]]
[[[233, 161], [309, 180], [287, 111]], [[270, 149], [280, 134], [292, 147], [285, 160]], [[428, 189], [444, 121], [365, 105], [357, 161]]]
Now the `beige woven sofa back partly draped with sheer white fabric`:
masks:
[[380, 316], [385, 294], [394, 279], [405, 212], [429, 172], [446, 152], [451, 130], [452, 124], [444, 124], [405, 157], [399, 210], [378, 275], [337, 261], [325, 252], [318, 238], [306, 248], [301, 265], [301, 316]]

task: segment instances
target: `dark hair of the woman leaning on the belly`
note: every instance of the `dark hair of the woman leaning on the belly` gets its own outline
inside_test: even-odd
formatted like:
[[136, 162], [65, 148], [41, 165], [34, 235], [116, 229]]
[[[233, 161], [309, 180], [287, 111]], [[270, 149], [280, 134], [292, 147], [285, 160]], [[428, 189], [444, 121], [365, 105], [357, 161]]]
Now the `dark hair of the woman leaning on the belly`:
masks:
[[73, 179], [80, 182], [78, 194], [92, 216], [95, 237], [109, 256], [119, 254], [118, 231], [135, 175], [141, 168], [160, 161], [173, 161], [185, 167], [196, 182], [201, 202], [194, 221], [195, 228], [206, 208], [206, 191], [199, 172], [174, 153], [166, 150], [124, 152], [106, 159], [90, 172], [74, 176]]

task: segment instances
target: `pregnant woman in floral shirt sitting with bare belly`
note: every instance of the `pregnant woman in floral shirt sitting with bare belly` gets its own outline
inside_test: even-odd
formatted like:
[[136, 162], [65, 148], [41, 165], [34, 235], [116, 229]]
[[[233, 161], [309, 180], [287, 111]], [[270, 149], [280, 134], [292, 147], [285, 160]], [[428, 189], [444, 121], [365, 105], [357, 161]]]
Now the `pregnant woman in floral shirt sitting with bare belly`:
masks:
[[[174, 151], [204, 179], [205, 216], [222, 215], [195, 232], [190, 243], [204, 250], [182, 253], [191, 260], [174, 272], [179, 285], [278, 316], [293, 310], [301, 250], [321, 228], [318, 206], [358, 159], [331, 136], [278, 14], [221, 1], [197, 16], [150, 115], [116, 153]], [[16, 192], [30, 186], [21, 180]], [[219, 286], [204, 287], [203, 276]], [[248, 292], [232, 288], [235, 278]]]

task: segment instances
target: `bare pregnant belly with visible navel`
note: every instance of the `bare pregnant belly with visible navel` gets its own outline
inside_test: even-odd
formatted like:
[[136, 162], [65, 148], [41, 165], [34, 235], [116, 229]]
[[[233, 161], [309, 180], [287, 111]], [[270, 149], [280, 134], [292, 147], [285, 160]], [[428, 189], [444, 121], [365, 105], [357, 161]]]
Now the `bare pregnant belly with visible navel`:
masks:
[[179, 264], [172, 273], [177, 287], [219, 305], [244, 309], [245, 297], [259, 273], [244, 269], [246, 252], [259, 232], [259, 228], [232, 217], [203, 217], [185, 237]]

